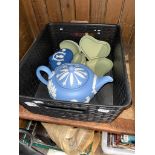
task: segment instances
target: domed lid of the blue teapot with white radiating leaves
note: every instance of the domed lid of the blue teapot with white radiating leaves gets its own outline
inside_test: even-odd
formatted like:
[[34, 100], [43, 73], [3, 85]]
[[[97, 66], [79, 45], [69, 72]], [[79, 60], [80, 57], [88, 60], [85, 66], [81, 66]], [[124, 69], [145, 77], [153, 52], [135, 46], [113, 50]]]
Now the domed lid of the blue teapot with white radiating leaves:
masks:
[[88, 80], [88, 69], [82, 64], [65, 63], [55, 70], [56, 82], [63, 88], [76, 89]]

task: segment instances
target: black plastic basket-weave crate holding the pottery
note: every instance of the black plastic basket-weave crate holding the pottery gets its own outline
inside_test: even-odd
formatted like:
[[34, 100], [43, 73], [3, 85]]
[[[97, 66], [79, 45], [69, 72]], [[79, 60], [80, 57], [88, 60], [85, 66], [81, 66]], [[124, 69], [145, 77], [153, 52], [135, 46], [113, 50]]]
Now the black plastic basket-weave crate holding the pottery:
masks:
[[[111, 45], [108, 57], [114, 66], [109, 75], [114, 82], [102, 87], [89, 103], [55, 101], [36, 77], [36, 69], [40, 65], [48, 66], [48, 57], [59, 49], [61, 41], [70, 39], [79, 43], [85, 33]], [[19, 74], [20, 104], [33, 113], [81, 121], [111, 122], [131, 102], [118, 25], [50, 23], [21, 60]]]

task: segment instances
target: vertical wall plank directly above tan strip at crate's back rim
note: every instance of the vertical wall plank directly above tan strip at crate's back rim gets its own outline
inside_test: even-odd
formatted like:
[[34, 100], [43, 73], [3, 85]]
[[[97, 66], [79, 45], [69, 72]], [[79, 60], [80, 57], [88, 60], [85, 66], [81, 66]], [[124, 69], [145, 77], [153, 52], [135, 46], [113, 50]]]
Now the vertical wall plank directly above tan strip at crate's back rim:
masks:
[[89, 21], [90, 0], [75, 0], [76, 20]]

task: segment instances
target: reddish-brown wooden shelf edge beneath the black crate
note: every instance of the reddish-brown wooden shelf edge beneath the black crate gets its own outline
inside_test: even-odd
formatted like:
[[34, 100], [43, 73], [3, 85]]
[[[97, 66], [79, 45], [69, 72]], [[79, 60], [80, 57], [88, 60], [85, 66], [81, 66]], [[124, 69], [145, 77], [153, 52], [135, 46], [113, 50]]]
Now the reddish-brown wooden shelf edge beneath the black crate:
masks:
[[25, 109], [20, 105], [19, 117], [27, 120], [35, 120], [41, 122], [55, 123], [60, 125], [69, 125], [81, 128], [88, 128], [96, 131], [108, 131], [112, 133], [125, 133], [134, 134], [135, 133], [135, 123], [134, 120], [116, 118], [111, 123], [96, 123], [96, 122], [82, 122], [69, 119], [54, 118], [49, 116], [43, 116], [39, 114], [34, 114]]

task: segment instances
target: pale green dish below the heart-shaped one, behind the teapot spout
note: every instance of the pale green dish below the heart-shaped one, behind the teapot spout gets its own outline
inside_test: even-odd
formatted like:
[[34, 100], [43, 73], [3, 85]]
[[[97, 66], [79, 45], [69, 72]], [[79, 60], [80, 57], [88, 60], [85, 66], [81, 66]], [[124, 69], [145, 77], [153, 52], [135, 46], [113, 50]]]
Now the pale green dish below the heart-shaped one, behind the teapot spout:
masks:
[[113, 62], [107, 58], [98, 58], [87, 61], [86, 64], [97, 76], [103, 76], [108, 73], [112, 67]]

